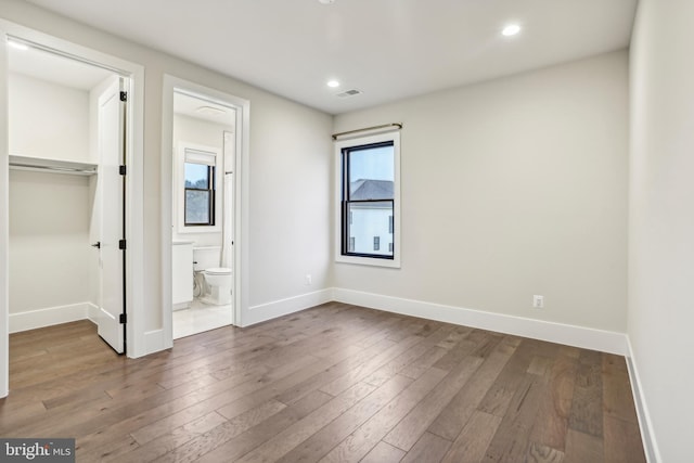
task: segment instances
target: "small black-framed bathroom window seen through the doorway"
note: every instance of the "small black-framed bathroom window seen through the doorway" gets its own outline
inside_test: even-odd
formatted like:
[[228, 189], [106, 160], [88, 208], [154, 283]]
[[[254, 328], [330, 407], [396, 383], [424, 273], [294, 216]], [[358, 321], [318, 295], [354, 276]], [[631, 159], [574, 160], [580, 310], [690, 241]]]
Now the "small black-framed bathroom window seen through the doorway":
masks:
[[184, 149], [183, 226], [214, 227], [216, 196], [216, 164], [214, 152]]

